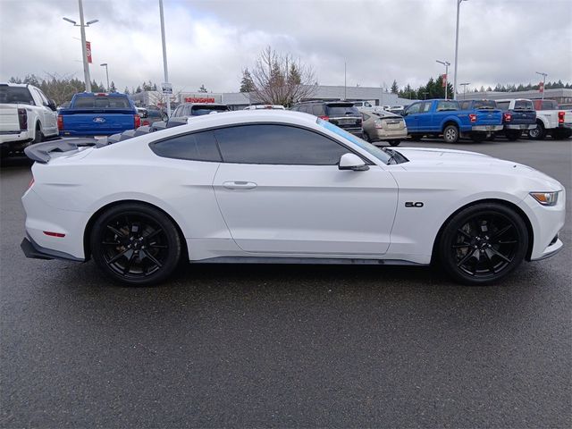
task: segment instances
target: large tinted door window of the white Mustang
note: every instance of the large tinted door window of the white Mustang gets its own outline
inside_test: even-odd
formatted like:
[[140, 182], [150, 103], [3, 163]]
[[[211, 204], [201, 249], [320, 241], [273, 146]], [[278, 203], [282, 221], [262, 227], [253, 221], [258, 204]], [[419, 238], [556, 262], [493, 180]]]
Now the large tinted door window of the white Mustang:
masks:
[[214, 135], [226, 163], [335, 165], [350, 152], [316, 132], [286, 125], [242, 125]]

